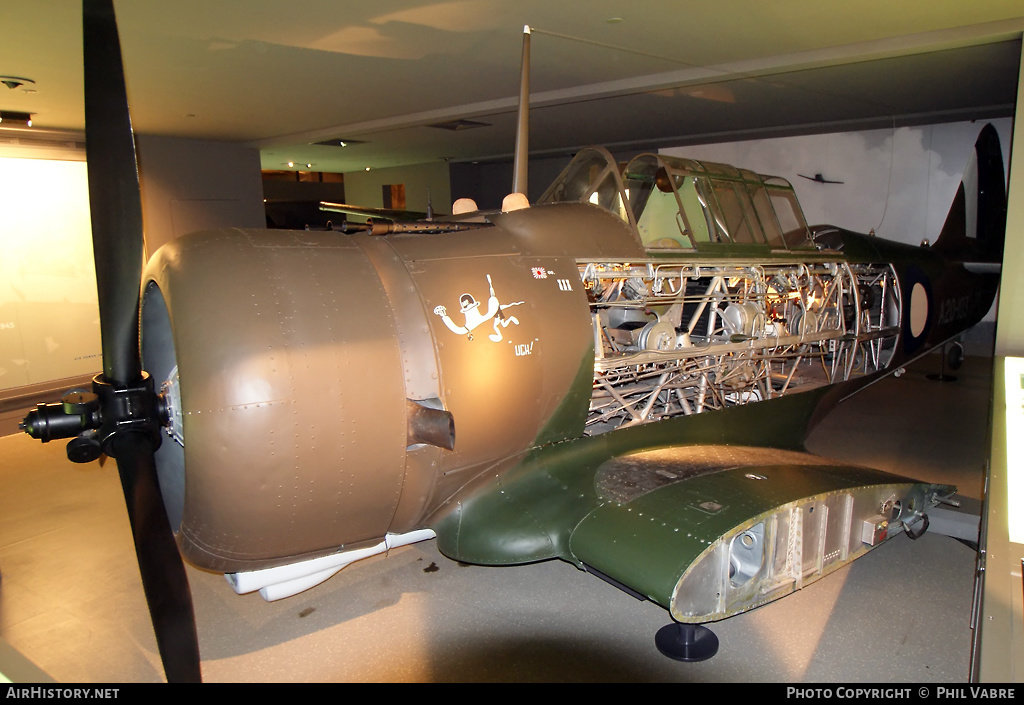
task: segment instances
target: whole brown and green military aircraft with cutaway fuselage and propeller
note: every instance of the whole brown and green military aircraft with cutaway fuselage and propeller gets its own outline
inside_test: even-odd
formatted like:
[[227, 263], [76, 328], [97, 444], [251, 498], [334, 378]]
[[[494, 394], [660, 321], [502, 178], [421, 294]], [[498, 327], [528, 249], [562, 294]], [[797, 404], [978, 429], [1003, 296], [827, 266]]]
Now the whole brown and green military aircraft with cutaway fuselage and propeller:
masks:
[[703, 624], [920, 535], [954, 492], [803, 444], [988, 310], [991, 127], [930, 247], [809, 227], [781, 178], [595, 148], [532, 205], [200, 233], [142, 271], [109, 1], [84, 35], [103, 372], [24, 427], [116, 459], [169, 680], [201, 676], [182, 554], [267, 599], [428, 538], [560, 558], [666, 608], [658, 648], [698, 660]]

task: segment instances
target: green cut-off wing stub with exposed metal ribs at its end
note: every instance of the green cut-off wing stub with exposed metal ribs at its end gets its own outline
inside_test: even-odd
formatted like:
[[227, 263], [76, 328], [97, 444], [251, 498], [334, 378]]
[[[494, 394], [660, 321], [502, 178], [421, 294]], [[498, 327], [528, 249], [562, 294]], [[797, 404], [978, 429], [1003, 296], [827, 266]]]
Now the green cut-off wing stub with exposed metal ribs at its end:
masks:
[[[900, 531], [923, 532], [925, 512], [955, 491], [762, 447], [577, 460], [574, 480], [527, 471], [474, 493], [437, 527], [439, 548], [474, 563], [561, 557], [678, 622], [703, 623], [790, 594]], [[500, 546], [476, 531], [480, 510], [502, 525]]]

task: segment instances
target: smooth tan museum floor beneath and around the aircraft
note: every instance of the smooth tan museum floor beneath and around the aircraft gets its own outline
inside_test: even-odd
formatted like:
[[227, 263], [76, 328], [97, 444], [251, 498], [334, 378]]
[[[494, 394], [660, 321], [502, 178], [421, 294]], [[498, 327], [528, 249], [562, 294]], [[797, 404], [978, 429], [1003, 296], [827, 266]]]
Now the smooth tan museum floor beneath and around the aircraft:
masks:
[[[808, 448], [956, 484], [977, 507], [990, 363], [936, 382], [929, 357], [848, 401]], [[714, 625], [719, 654], [695, 664], [655, 649], [664, 610], [561, 562], [463, 566], [429, 541], [272, 604], [188, 578], [207, 681], [963, 682], [975, 558], [948, 536], [900, 535]], [[0, 438], [0, 672], [15, 677], [20, 654], [61, 682], [163, 678], [113, 463]]]

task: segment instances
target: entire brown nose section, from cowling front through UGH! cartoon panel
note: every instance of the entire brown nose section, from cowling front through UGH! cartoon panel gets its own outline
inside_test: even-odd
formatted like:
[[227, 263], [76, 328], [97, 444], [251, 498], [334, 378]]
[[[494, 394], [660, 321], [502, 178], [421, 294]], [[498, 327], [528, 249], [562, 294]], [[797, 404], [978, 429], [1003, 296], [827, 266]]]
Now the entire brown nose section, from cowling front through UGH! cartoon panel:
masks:
[[191, 563], [252, 571], [423, 528], [474, 478], [583, 433], [594, 342], [565, 231], [504, 220], [161, 248], [142, 357], [171, 409], [158, 467]]

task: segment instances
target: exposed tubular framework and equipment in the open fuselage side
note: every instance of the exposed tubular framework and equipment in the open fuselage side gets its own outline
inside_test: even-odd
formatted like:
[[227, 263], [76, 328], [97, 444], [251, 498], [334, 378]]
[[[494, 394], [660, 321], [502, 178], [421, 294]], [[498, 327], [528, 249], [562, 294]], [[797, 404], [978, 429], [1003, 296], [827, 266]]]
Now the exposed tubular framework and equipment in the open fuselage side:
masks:
[[591, 262], [588, 433], [882, 371], [899, 333], [891, 266]]

